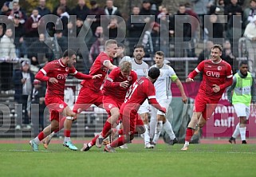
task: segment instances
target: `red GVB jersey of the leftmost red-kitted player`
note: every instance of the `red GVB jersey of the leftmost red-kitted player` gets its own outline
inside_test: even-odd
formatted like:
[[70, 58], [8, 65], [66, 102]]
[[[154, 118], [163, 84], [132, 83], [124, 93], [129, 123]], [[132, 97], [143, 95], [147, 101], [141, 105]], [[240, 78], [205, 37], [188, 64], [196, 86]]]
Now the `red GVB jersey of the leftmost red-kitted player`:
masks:
[[58, 83], [53, 84], [47, 81], [46, 96], [64, 96], [65, 80], [69, 74], [77, 74], [77, 69], [73, 66], [69, 68], [61, 62], [61, 59], [57, 61], [51, 61], [41, 69], [47, 77], [54, 77]]

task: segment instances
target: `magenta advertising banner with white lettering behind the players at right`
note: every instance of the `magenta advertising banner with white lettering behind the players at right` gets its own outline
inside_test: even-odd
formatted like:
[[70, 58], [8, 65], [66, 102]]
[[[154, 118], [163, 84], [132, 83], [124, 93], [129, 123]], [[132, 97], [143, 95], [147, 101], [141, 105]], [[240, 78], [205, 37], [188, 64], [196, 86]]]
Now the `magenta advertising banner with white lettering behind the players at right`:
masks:
[[[188, 97], [195, 99], [199, 90], [200, 82], [183, 83], [183, 87]], [[180, 96], [179, 88], [175, 84], [171, 85], [173, 96]], [[238, 124], [238, 117], [234, 107], [227, 100], [226, 92], [223, 94], [214, 114], [203, 127], [204, 138], [230, 137]], [[251, 107], [248, 125], [246, 126], [246, 137], [256, 137], [256, 110]]]

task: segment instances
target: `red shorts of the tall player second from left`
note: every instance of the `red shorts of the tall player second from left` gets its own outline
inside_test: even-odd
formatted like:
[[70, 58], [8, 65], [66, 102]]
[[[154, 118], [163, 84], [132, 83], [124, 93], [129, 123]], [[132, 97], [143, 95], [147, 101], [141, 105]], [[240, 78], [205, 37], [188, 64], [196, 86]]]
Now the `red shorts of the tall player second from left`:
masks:
[[94, 92], [90, 88], [82, 87], [74, 105], [73, 112], [80, 113], [89, 108], [92, 104], [102, 108], [102, 97], [101, 91]]

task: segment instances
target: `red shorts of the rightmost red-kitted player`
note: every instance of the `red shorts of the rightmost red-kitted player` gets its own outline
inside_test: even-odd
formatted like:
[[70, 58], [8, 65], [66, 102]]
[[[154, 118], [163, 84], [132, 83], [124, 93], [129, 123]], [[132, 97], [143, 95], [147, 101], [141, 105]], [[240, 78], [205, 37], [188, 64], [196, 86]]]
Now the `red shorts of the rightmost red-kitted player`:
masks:
[[207, 120], [215, 111], [218, 103], [219, 100], [211, 100], [208, 96], [197, 95], [193, 112], [202, 112], [203, 119]]

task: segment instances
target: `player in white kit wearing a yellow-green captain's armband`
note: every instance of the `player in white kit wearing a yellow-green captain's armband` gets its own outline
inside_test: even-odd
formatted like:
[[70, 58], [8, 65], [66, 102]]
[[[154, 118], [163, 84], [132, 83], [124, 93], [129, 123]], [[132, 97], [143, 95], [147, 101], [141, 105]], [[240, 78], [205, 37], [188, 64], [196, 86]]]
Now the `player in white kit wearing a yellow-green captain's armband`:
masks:
[[[157, 67], [160, 69], [160, 77], [158, 77], [154, 83], [156, 88], [156, 100], [163, 108], [166, 108], [166, 110], [168, 109], [172, 98], [171, 81], [174, 81], [179, 88], [183, 103], [186, 103], [187, 96], [184, 92], [183, 85], [181, 81], [179, 81], [174, 69], [172, 69], [171, 66], [164, 64], [164, 53], [162, 51], [157, 51], [155, 53], [154, 61], [156, 64], [152, 65], [152, 67]], [[150, 120], [150, 137], [152, 139], [152, 148], [154, 148], [157, 140], [159, 140], [162, 129], [167, 132], [167, 135], [171, 139], [169, 144], [173, 145], [178, 143], [178, 140], [175, 138], [175, 134], [172, 131], [171, 124], [169, 120], [167, 120], [165, 114], [152, 106], [152, 116]]]

